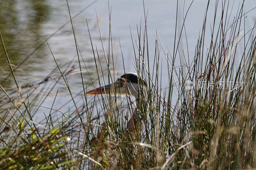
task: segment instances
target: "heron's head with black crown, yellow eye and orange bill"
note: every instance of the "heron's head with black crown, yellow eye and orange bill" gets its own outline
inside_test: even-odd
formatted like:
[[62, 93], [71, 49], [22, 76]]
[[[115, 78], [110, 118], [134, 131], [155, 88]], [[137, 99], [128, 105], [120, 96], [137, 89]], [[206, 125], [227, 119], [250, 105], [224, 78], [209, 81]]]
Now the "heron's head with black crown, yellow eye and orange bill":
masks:
[[128, 94], [136, 96], [136, 93], [140, 89], [139, 84], [146, 85], [146, 81], [144, 79], [138, 78], [138, 74], [136, 73], [125, 73], [121, 77], [117, 78], [115, 83], [93, 89], [86, 94], [114, 95], [116, 92], [117, 95]]

